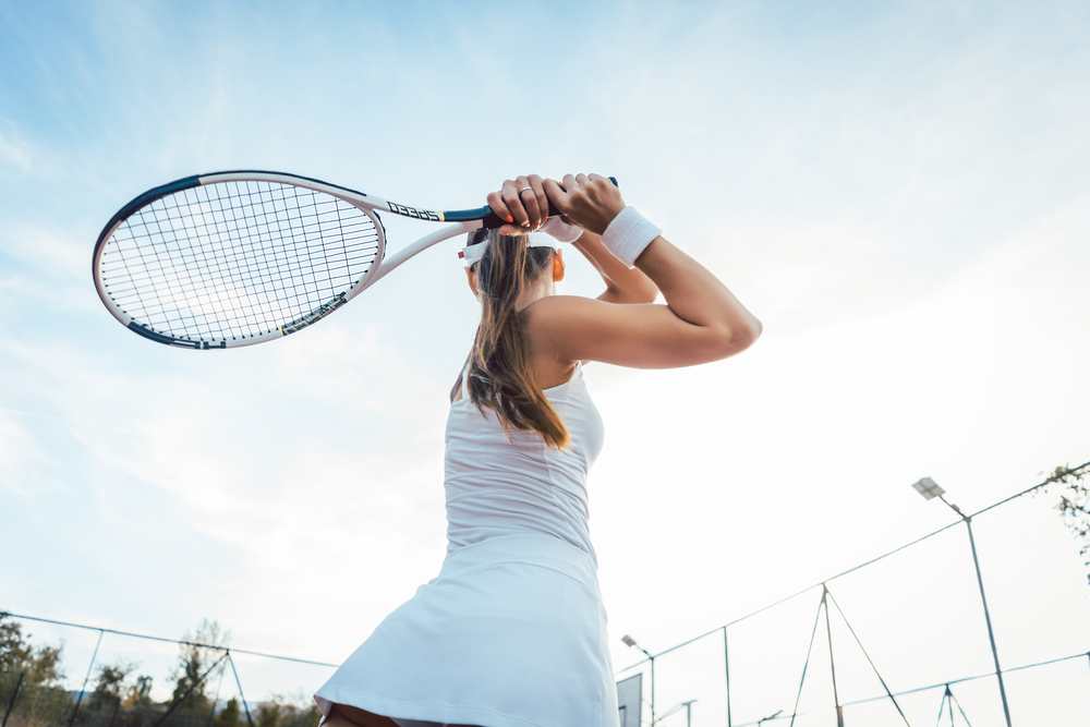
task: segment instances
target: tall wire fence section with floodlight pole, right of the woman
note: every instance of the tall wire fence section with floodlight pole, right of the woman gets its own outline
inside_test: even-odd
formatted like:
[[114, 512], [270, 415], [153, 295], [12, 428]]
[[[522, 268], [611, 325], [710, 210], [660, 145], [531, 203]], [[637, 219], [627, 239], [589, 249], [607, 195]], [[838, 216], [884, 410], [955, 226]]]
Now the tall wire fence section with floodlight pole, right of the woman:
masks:
[[1085, 727], [1086, 578], [1055, 582], [1010, 536], [1044, 533], [1074, 556], [1031, 496], [1052, 480], [628, 666], [642, 724]]

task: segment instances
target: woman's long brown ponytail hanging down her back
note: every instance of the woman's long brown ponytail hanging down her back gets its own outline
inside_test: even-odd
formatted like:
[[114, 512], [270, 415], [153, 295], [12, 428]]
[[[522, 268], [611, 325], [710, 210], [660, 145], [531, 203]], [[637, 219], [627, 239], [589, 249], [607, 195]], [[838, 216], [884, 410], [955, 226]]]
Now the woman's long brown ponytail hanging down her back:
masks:
[[497, 230], [470, 233], [469, 244], [488, 242], [473, 266], [481, 298], [477, 326], [465, 367], [470, 401], [499, 416], [504, 432], [536, 432], [553, 449], [571, 445], [568, 428], [534, 377], [530, 343], [516, 308], [522, 294], [549, 269], [550, 247], [530, 247], [526, 235]]

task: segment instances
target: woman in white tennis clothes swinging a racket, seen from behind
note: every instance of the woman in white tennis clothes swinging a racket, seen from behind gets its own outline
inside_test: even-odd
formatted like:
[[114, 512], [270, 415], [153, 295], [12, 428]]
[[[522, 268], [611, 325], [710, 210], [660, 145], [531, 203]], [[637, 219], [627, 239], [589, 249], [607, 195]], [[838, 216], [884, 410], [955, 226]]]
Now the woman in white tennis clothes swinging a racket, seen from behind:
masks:
[[[761, 332], [605, 178], [519, 177], [488, 204], [507, 225], [462, 251], [482, 315], [447, 420], [447, 558], [315, 694], [329, 727], [616, 725], [585, 489], [602, 421], [581, 366], [691, 366]], [[555, 294], [564, 259], [532, 246], [538, 228], [602, 274], [597, 300]]]

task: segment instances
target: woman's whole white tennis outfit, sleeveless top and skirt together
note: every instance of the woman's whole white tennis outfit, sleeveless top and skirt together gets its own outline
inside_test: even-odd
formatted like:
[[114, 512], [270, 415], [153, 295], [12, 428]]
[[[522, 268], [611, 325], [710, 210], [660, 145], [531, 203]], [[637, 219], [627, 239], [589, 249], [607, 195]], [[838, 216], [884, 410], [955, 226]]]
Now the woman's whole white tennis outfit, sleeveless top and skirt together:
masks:
[[[464, 376], [463, 376], [464, 379]], [[602, 419], [582, 367], [545, 389], [572, 446], [504, 434], [462, 398], [446, 431], [447, 557], [314, 699], [402, 727], [616, 726], [617, 692], [588, 529]]]

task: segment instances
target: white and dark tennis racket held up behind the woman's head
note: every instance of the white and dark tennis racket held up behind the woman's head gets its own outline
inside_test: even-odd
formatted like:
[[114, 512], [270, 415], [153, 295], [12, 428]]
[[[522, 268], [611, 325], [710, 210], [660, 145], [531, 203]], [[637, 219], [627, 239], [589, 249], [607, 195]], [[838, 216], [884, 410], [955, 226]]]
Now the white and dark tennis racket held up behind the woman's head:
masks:
[[[378, 211], [453, 225], [386, 259]], [[102, 303], [133, 332], [231, 349], [314, 325], [432, 245], [502, 223], [488, 207], [433, 211], [295, 174], [216, 172], [122, 207], [92, 268]]]

